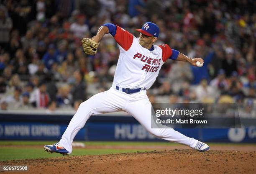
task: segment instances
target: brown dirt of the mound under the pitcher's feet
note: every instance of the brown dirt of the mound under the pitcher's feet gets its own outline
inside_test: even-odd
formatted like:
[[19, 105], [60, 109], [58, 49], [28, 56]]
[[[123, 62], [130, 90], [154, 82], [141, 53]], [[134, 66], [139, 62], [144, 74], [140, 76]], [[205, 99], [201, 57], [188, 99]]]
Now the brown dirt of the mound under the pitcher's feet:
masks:
[[31, 174], [255, 174], [256, 151], [151, 151], [0, 161], [0, 165], [26, 165]]

